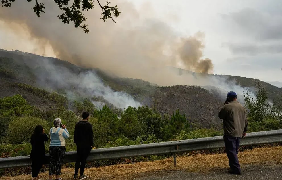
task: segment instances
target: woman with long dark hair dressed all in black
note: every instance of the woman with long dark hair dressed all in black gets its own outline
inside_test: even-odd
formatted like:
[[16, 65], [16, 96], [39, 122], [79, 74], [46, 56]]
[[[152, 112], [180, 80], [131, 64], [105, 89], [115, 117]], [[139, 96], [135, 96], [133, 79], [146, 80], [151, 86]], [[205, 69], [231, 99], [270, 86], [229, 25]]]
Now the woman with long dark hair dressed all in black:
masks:
[[30, 152], [30, 159], [32, 159], [31, 173], [32, 180], [40, 180], [37, 178], [42, 165], [45, 163], [45, 145], [44, 141], [48, 141], [48, 137], [44, 132], [42, 125], [35, 127], [31, 135], [30, 143], [32, 149]]

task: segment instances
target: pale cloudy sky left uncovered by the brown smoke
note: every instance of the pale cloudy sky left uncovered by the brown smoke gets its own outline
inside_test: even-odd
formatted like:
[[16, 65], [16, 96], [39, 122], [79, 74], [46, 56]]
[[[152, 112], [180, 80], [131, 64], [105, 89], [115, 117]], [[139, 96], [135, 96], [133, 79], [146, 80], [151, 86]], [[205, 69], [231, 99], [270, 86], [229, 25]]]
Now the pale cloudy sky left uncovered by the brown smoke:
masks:
[[[281, 0], [128, 1], [139, 10], [136, 25], [140, 19], [157, 19], [180, 35], [204, 32], [203, 58], [213, 61], [214, 74], [282, 81]], [[126, 9], [122, 13], [131, 16]], [[136, 16], [132, 15], [132, 18]], [[126, 22], [117, 21], [127, 26]], [[3, 26], [0, 21], [0, 48], [37, 52], [34, 40], [19, 37], [15, 31]], [[95, 30], [90, 30], [90, 33], [95, 33]], [[47, 49], [45, 53], [46, 56], [54, 56], [52, 49]]]

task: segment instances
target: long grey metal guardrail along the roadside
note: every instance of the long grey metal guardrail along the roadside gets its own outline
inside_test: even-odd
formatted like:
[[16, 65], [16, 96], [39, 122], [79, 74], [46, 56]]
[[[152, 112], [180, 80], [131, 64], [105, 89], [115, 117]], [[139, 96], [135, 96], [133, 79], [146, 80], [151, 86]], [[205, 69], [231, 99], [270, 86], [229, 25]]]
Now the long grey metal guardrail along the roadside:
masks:
[[[268, 143], [282, 142], [282, 129], [273, 131], [261, 131], [247, 133], [247, 136], [241, 138], [240, 146], [258, 145]], [[151, 143], [144, 145], [121, 146], [112, 148], [101, 148], [91, 150], [87, 161], [106, 160], [115, 158], [129, 158], [137, 156], [174, 154], [174, 165], [176, 165], [175, 153], [188, 152], [195, 150], [208, 150], [215, 148], [224, 148], [223, 136], [206, 137], [199, 139], [188, 139], [181, 141], [168, 141], [162, 143]], [[49, 154], [46, 154], [47, 163]], [[65, 153], [64, 162], [75, 162], [76, 151]], [[29, 156], [18, 156], [11, 158], [0, 158], [1, 168], [14, 168], [22, 166], [31, 166]]]

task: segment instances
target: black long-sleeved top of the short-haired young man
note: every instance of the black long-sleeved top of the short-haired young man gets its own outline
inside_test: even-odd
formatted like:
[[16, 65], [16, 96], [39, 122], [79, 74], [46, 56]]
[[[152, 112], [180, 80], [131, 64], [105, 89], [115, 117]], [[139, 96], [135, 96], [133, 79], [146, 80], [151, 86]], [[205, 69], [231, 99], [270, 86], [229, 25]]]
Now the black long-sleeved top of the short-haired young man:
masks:
[[94, 144], [92, 124], [88, 121], [76, 123], [73, 140], [77, 146], [92, 146]]

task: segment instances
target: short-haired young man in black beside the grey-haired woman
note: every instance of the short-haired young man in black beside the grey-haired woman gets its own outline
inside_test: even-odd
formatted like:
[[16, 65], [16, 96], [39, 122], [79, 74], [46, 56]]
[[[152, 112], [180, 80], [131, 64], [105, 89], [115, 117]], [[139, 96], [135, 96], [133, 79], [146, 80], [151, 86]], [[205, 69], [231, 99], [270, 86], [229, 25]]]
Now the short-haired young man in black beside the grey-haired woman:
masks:
[[[86, 159], [92, 149], [93, 130], [92, 125], [88, 122], [89, 113], [82, 113], [82, 120], [76, 123], [74, 129], [74, 143], [76, 144], [76, 162], [74, 169], [74, 178], [78, 179], [78, 169], [80, 168], [79, 179], [86, 179], [88, 175], [84, 175]], [[80, 164], [81, 163], [81, 164]]]

